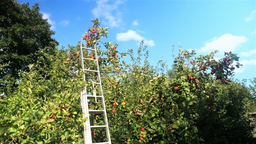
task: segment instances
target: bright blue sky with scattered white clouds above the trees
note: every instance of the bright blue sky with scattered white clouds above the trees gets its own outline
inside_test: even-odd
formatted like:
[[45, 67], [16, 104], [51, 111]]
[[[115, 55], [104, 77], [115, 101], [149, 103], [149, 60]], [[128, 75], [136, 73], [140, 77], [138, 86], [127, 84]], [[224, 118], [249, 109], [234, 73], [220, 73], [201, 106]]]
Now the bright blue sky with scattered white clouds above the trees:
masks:
[[134, 50], [141, 40], [149, 50], [149, 62], [161, 58], [172, 64], [175, 51], [195, 49], [198, 54], [232, 51], [243, 64], [235, 78], [256, 77], [256, 0], [19, 0], [39, 3], [53, 36], [61, 46], [76, 45], [98, 18], [108, 28], [107, 41], [118, 51]]

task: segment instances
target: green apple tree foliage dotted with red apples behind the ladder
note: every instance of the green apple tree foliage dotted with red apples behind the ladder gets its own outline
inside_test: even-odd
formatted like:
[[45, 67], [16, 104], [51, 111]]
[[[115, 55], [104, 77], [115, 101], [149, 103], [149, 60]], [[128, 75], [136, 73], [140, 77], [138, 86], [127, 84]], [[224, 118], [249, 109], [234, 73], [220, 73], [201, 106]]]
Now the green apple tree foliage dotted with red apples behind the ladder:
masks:
[[[100, 27], [97, 19], [92, 22], [82, 41], [84, 46], [98, 47], [112, 143], [255, 140], [248, 120], [248, 107], [255, 99], [246, 86], [229, 79], [233, 69], [240, 66], [235, 63], [239, 58], [236, 54], [225, 52], [223, 59], [215, 60], [216, 51], [196, 55], [194, 50], [179, 49], [172, 69], [165, 73], [163, 67], [148, 63], [143, 41], [136, 54], [132, 49], [119, 53], [115, 42], [100, 41], [107, 36], [107, 27]], [[96, 55], [86, 50], [81, 53], [79, 44], [59, 50], [52, 44], [36, 53], [36, 61], [12, 81], [17, 87], [1, 96], [0, 143], [83, 143], [86, 118], [82, 118], [80, 90], [85, 85], [91, 90], [89, 79], [95, 75], [81, 70], [81, 55], [92, 59]], [[121, 61], [124, 56], [130, 56], [131, 63]], [[95, 67], [95, 62], [85, 64]], [[1, 71], [5, 66], [1, 64]], [[88, 81], [83, 81], [83, 74]], [[100, 104], [91, 100], [89, 108]], [[100, 115], [90, 118], [102, 122]], [[99, 130], [92, 132], [93, 140], [104, 138]]]

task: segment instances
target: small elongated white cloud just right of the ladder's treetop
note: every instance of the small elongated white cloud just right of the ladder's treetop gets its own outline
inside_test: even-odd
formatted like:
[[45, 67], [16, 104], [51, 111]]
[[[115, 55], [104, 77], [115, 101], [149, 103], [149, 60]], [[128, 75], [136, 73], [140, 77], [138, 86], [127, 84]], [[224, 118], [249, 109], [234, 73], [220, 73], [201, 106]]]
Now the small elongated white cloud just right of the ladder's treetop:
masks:
[[152, 39], [148, 40], [139, 35], [134, 30], [128, 30], [127, 32], [122, 33], [116, 33], [116, 39], [119, 41], [129, 41], [129, 40], [136, 40], [140, 42], [141, 40], [144, 40], [144, 43], [148, 46], [154, 46], [154, 41]]

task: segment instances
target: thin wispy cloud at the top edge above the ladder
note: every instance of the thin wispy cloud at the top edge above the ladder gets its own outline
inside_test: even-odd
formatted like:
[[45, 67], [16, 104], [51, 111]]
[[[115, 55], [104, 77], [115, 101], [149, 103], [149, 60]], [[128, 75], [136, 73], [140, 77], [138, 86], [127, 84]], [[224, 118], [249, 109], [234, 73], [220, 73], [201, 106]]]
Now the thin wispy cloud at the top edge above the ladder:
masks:
[[[92, 14], [99, 18], [104, 17], [107, 20], [109, 27], [118, 27], [122, 22], [121, 13], [118, 10], [118, 5], [123, 3], [123, 0], [116, 0], [112, 4], [107, 4], [108, 0], [98, 0], [97, 6], [92, 9]], [[115, 14], [112, 14], [115, 12]]]

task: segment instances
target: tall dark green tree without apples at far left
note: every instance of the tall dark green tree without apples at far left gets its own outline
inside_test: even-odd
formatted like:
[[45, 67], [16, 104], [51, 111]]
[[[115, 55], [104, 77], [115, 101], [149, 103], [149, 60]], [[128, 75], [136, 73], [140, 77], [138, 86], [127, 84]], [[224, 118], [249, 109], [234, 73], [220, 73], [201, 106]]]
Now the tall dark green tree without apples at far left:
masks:
[[1, 0], [0, 21], [0, 87], [7, 93], [17, 86], [18, 71], [28, 71], [27, 65], [37, 60], [38, 50], [53, 54], [57, 42], [38, 4], [30, 9], [29, 3]]

